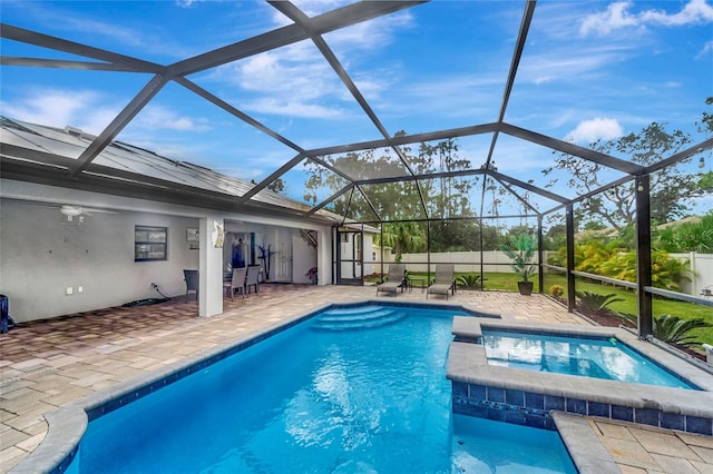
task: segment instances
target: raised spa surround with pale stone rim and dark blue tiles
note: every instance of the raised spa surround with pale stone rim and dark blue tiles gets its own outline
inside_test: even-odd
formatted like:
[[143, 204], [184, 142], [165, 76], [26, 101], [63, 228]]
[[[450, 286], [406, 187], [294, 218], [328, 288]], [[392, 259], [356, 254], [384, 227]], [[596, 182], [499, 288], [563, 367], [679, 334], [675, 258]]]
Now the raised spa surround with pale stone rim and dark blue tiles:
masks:
[[[477, 344], [482, 336], [482, 327], [580, 337], [616, 337], [702, 391], [491, 366], [487, 363], [485, 346]], [[447, 377], [453, 383], [456, 409], [479, 416], [488, 414], [488, 409], [506, 408], [507, 416], [508, 411], [511, 413], [512, 407], [519, 406], [527, 412], [525, 418], [533, 415], [531, 422], [536, 426], [540, 421], [534, 415], [547, 417], [550, 409], [559, 409], [697, 434], [711, 435], [713, 432], [713, 376], [622, 328], [481, 322], [456, 316], [452, 333], [456, 338], [450, 345]], [[545, 423], [549, 421], [545, 419]], [[529, 422], [525, 419], [522, 424]]]

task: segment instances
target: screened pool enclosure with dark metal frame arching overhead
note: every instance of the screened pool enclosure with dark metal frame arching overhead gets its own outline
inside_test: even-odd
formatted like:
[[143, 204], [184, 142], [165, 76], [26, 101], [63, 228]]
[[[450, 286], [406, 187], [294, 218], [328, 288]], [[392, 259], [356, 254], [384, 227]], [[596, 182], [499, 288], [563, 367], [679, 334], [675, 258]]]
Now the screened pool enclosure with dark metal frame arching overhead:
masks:
[[527, 235], [573, 310], [711, 308], [713, 236], [666, 237], [713, 218], [705, 1], [126, 3], [2, 6], [3, 179], [329, 225], [332, 284], [515, 290]]

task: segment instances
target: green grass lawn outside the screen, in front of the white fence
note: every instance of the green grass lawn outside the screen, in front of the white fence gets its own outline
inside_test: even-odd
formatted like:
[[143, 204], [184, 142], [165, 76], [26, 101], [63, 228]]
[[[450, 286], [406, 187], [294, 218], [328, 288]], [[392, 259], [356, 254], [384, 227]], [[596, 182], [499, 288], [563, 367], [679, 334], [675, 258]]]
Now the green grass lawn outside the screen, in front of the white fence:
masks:
[[[409, 275], [416, 278], [426, 278], [424, 273], [409, 273]], [[458, 276], [458, 274], [456, 275]], [[431, 278], [433, 275], [431, 274]], [[375, 278], [372, 279], [375, 282]], [[500, 289], [517, 292], [518, 277], [515, 274], [485, 274], [485, 288], [486, 289]], [[534, 292], [539, 292], [537, 276], [534, 278], [535, 288]], [[567, 296], [567, 280], [564, 275], [547, 274], [545, 278], [545, 292], [553, 285], [560, 285], [565, 290], [565, 297]], [[592, 292], [599, 295], [615, 294], [622, 298], [623, 302], [616, 302], [609, 305], [611, 309], [618, 313], [636, 314], [636, 295], [632, 290], [621, 288], [617, 286], [602, 285], [598, 283], [585, 282], [577, 279], [577, 290]], [[677, 302], [673, 299], [665, 299], [658, 296], [654, 296], [653, 302], [654, 316], [670, 314], [672, 316], [678, 316], [682, 319], [702, 318], [705, 322], [713, 325], [713, 308], [710, 306], [695, 305], [693, 303]], [[713, 345], [713, 327], [703, 327], [691, 332], [701, 343], [707, 343]]]

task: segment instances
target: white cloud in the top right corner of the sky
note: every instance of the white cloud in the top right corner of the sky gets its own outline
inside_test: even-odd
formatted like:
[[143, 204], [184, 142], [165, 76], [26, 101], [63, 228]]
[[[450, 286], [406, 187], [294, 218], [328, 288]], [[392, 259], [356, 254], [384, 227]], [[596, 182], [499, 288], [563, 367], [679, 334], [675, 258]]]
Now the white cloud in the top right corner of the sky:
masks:
[[583, 36], [589, 33], [606, 36], [614, 30], [624, 28], [645, 28], [654, 24], [681, 27], [705, 24], [713, 21], [713, 7], [707, 4], [705, 0], [690, 0], [676, 13], [655, 9], [633, 13], [631, 12], [633, 2], [631, 1], [609, 3], [605, 11], [586, 17], [579, 26], [579, 33]]

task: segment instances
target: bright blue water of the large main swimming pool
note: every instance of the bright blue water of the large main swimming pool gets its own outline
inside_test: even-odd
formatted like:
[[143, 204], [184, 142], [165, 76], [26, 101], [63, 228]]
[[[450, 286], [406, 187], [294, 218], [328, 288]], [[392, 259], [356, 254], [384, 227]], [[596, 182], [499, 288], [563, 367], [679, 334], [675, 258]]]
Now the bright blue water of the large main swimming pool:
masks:
[[332, 309], [89, 423], [74, 473], [574, 473], [556, 432], [453, 415], [452, 309]]

